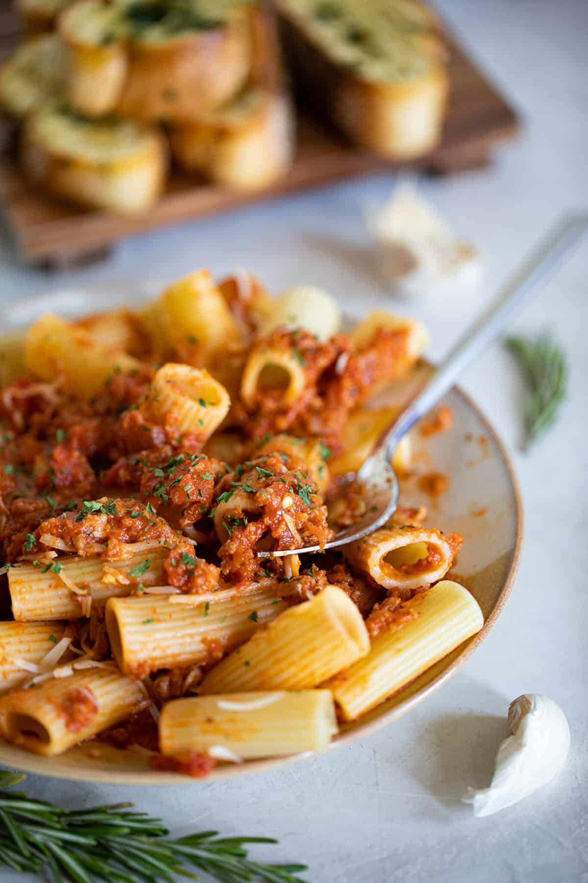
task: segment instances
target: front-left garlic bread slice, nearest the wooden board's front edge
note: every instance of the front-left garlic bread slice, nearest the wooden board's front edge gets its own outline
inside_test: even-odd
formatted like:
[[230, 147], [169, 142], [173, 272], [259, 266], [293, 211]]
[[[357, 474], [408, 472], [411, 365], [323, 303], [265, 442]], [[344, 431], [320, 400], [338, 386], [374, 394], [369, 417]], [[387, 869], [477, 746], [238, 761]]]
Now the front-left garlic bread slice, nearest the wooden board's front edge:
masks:
[[167, 150], [153, 126], [91, 120], [56, 104], [26, 118], [21, 161], [29, 180], [48, 192], [126, 215], [149, 208], [160, 196]]

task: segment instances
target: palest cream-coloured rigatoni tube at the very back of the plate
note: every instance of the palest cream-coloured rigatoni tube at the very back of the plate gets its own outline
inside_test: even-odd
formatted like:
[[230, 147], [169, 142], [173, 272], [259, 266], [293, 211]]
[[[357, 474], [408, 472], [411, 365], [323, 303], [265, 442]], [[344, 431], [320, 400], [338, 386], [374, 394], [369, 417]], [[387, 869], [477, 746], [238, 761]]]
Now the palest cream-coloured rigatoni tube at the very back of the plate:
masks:
[[314, 285], [295, 285], [275, 301], [272, 312], [261, 326], [261, 334], [276, 328], [305, 328], [318, 340], [328, 340], [341, 326], [341, 311], [335, 298]]

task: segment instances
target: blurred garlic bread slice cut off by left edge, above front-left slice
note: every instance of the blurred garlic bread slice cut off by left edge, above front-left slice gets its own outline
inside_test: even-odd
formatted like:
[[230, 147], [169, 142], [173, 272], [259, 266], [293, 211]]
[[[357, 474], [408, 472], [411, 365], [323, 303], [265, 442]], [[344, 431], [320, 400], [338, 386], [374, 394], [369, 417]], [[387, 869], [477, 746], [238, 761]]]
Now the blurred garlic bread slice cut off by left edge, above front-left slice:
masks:
[[0, 107], [20, 119], [65, 87], [66, 57], [57, 34], [41, 34], [23, 43], [0, 68]]

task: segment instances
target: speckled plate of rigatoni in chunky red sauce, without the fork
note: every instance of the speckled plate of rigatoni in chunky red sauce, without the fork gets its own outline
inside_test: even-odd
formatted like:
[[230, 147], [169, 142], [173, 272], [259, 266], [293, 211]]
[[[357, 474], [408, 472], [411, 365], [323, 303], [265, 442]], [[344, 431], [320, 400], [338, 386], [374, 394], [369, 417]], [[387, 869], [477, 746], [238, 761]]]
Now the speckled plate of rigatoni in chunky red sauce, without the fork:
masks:
[[294, 763], [391, 723], [488, 635], [522, 511], [457, 388], [398, 448], [387, 525], [258, 555], [365, 514], [354, 472], [430, 370], [419, 322], [205, 270], [0, 320], [2, 763], [136, 784]]

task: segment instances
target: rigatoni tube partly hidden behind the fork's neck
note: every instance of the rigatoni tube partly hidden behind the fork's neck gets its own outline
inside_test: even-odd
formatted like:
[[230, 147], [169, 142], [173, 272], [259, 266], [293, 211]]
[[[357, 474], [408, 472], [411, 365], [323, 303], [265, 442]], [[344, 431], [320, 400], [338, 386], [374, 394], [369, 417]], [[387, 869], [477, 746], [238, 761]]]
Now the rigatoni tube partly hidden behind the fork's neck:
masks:
[[[329, 460], [332, 476], [357, 472], [361, 464], [376, 448], [380, 436], [392, 425], [398, 415], [398, 408], [359, 409], [349, 416], [343, 430], [344, 450], [342, 454]], [[410, 436], [398, 444], [392, 464], [397, 472], [408, 472], [411, 464]]]

